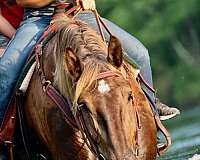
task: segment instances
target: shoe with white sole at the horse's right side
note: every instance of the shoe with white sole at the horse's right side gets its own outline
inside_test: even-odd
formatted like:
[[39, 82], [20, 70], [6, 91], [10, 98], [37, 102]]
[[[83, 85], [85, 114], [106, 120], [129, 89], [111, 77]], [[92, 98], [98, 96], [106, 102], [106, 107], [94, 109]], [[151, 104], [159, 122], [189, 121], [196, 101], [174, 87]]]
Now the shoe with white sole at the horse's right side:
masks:
[[156, 106], [161, 121], [173, 118], [180, 114], [180, 111], [177, 108], [172, 108], [167, 106], [166, 104], [161, 103], [158, 98], [156, 98]]

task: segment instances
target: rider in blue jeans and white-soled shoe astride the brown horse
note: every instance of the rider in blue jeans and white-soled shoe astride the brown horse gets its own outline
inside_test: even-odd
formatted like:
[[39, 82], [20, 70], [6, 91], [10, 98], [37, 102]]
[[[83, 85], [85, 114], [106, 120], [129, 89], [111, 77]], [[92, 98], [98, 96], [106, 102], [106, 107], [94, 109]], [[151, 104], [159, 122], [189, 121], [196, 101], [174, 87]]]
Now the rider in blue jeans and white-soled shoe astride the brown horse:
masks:
[[[60, 1], [63, 3], [63, 0]], [[67, 2], [69, 1], [67, 0]], [[76, 1], [81, 3], [85, 10], [95, 9], [94, 0]], [[60, 2], [59, 0], [56, 2], [55, 0], [17, 0], [17, 3], [25, 7], [25, 13], [21, 26], [0, 59], [0, 121], [4, 116], [12, 95], [12, 90], [25, 64], [25, 60], [45, 28], [50, 24], [56, 5]], [[86, 21], [90, 26], [96, 28], [95, 18], [91, 12], [83, 12], [77, 18]], [[141, 74], [145, 80], [152, 85], [152, 74], [147, 49], [136, 38], [118, 26], [108, 20], [105, 20], [105, 22], [112, 33], [121, 40], [122, 46], [128, 55], [140, 65]], [[151, 96], [153, 97], [153, 94]], [[162, 107], [162, 111], [164, 112], [160, 113], [166, 119], [179, 114], [177, 109], [169, 108], [162, 103], [157, 103], [157, 106], [158, 110]]]

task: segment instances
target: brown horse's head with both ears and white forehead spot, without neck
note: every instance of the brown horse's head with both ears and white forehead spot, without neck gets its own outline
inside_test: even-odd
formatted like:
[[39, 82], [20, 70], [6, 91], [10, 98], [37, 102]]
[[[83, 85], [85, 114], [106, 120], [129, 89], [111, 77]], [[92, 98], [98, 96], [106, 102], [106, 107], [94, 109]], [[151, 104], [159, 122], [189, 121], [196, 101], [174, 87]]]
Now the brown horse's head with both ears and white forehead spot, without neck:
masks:
[[121, 73], [122, 48], [117, 38], [111, 37], [108, 56], [101, 56], [82, 63], [67, 48], [66, 70], [77, 83], [74, 105], [81, 105], [91, 139], [106, 159], [133, 159], [137, 138], [135, 93]]

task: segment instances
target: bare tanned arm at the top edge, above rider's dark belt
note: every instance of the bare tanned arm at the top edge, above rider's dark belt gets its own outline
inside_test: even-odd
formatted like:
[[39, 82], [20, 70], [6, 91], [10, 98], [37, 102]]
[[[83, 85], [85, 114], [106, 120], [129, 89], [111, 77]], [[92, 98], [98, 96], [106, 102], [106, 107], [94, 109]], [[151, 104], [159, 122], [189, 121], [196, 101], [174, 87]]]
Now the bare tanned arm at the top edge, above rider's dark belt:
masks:
[[17, 4], [22, 7], [40, 8], [44, 7], [55, 0], [16, 0]]

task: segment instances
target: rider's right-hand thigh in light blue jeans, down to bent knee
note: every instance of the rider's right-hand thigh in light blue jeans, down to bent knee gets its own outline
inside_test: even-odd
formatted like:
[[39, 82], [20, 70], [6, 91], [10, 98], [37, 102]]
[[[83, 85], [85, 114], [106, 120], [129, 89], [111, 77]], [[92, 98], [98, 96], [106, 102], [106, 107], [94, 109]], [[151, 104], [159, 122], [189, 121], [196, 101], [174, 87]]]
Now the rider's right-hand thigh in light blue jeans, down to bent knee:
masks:
[[[89, 24], [93, 29], [98, 31], [98, 26], [95, 20], [95, 16], [92, 12], [82, 12], [77, 15], [77, 18]], [[122, 46], [125, 52], [133, 58], [141, 67], [144, 64], [150, 65], [150, 58], [148, 54], [148, 50], [144, 47], [144, 45], [136, 39], [134, 36], [124, 31], [111, 21], [107, 19], [103, 19], [106, 23], [107, 27], [110, 29], [113, 35], [115, 35], [122, 43]], [[109, 40], [109, 34], [104, 30], [105, 38]]]

